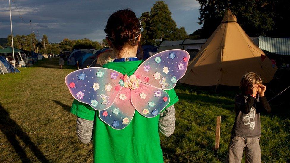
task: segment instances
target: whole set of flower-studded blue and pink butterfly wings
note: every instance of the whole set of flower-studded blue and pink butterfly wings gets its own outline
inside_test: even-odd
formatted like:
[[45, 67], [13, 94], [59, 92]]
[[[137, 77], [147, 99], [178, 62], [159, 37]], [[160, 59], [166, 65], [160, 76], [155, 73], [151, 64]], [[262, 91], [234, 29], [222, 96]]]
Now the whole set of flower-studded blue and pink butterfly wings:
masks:
[[113, 129], [124, 129], [137, 110], [147, 118], [157, 116], [169, 103], [166, 91], [186, 72], [189, 53], [166, 50], [142, 62], [133, 75], [90, 67], [71, 72], [65, 83], [73, 97], [95, 110]]

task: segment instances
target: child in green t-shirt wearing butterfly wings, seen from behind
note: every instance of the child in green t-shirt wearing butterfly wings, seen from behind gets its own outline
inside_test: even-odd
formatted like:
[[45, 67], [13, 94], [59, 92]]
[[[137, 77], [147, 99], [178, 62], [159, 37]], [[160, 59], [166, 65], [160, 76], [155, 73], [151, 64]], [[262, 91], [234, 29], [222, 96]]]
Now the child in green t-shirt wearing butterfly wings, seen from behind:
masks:
[[103, 68], [66, 77], [78, 137], [93, 140], [94, 162], [163, 162], [158, 131], [167, 137], [174, 132], [173, 87], [185, 74], [189, 54], [168, 50], [138, 60], [141, 23], [128, 9], [113, 13], [104, 31], [117, 57]]

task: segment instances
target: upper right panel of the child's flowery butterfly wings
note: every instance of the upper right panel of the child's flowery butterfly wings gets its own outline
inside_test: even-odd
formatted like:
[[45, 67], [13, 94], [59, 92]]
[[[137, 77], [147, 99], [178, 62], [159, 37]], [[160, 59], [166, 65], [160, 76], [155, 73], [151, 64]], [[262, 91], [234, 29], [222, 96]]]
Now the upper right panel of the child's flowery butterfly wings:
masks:
[[185, 50], [166, 50], [144, 61], [134, 75], [142, 83], [169, 90], [186, 72], [189, 53]]

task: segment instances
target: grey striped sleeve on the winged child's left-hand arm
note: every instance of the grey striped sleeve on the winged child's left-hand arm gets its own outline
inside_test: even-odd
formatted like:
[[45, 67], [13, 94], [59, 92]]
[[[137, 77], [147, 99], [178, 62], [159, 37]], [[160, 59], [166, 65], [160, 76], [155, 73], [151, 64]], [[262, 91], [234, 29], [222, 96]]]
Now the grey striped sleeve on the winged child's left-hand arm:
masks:
[[92, 140], [94, 121], [77, 118], [77, 134], [82, 143], [89, 143]]

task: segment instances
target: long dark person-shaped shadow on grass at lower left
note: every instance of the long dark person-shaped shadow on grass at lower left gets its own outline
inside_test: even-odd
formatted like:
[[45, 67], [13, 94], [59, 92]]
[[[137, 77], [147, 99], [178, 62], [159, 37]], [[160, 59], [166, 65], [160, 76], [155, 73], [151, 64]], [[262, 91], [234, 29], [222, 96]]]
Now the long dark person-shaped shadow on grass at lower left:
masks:
[[11, 143], [22, 162], [30, 162], [28, 159], [24, 147], [20, 146], [16, 136], [19, 137], [25, 145], [27, 145], [34, 155], [40, 160], [40, 162], [49, 162], [43, 153], [37, 148], [37, 146], [30, 140], [29, 136], [22, 131], [13, 119], [10, 118], [9, 113], [0, 104], [0, 130], [6, 136], [7, 140]]

